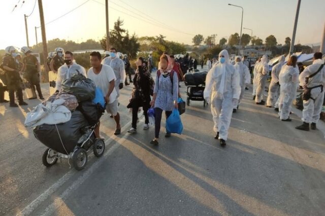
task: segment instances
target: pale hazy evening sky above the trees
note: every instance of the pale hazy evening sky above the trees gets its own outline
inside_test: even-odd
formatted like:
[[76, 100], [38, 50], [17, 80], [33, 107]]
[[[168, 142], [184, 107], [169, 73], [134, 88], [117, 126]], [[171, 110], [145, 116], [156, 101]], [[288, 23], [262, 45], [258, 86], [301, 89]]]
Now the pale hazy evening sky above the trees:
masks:
[[[36, 44], [35, 26], [40, 26], [38, 1], [0, 0], [2, 33], [0, 49], [26, 46], [24, 14], [27, 18], [29, 45]], [[241, 9], [243, 27], [263, 39], [273, 34], [278, 44], [292, 37], [298, 0], [109, 0], [109, 26], [120, 17], [123, 28], [138, 37], [165, 35], [167, 40], [192, 44], [195, 34], [205, 38], [217, 34], [216, 41], [240, 32]], [[83, 4], [85, 3], [85, 4]], [[83, 4], [83, 5], [82, 5]], [[17, 5], [15, 10], [14, 6]], [[81, 5], [81, 6], [80, 6]], [[55, 20], [74, 8], [73, 12]], [[59, 38], [83, 42], [99, 40], [106, 34], [105, 0], [43, 0], [47, 40]], [[325, 24], [325, 1], [302, 0], [295, 44], [321, 41]], [[243, 33], [251, 34], [243, 29]], [[41, 28], [37, 29], [41, 42]]]

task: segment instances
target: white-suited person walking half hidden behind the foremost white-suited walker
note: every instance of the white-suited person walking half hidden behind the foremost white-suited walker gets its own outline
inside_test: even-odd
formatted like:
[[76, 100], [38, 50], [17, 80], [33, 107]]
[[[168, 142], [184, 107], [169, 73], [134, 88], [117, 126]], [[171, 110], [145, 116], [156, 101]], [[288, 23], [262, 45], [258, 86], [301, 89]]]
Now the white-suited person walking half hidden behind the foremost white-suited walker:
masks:
[[240, 96], [239, 100], [234, 103], [234, 109], [233, 113], [236, 113], [238, 110], [238, 105], [240, 104], [240, 101], [243, 99], [244, 94], [245, 94], [245, 88], [246, 88], [246, 83], [250, 82], [250, 73], [248, 67], [243, 63], [242, 57], [241, 56], [236, 56], [235, 58], [236, 64], [235, 68], [237, 69], [240, 77]]

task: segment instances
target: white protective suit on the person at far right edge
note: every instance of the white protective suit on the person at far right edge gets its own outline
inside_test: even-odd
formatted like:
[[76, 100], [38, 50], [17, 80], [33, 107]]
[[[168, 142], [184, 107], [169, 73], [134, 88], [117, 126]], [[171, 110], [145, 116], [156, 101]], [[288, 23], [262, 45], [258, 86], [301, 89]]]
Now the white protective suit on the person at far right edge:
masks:
[[[324, 60], [316, 59], [313, 64], [307, 66], [304, 71], [299, 76], [300, 86], [306, 84], [306, 77], [315, 73]], [[325, 90], [325, 66], [316, 74], [314, 77], [310, 78], [307, 84], [308, 88], [312, 88], [318, 85], [323, 87], [317, 87], [311, 89], [311, 98], [309, 100], [304, 100], [304, 110], [302, 121], [306, 123], [317, 123], [319, 120], [319, 115], [321, 112], [321, 107], [324, 100], [324, 90]]]

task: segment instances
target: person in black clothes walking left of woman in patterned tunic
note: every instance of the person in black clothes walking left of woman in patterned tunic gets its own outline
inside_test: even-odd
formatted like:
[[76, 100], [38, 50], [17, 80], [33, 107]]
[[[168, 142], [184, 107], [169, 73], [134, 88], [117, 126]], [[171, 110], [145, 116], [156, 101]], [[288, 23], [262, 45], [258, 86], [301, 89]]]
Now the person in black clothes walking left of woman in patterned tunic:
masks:
[[134, 76], [134, 88], [130, 103], [127, 107], [132, 108], [132, 128], [127, 132], [137, 132], [138, 110], [142, 106], [145, 122], [143, 129], [149, 128], [148, 109], [150, 108], [150, 87], [151, 87], [151, 75], [148, 73], [148, 65], [144, 58], [140, 57], [136, 61], [137, 70]]

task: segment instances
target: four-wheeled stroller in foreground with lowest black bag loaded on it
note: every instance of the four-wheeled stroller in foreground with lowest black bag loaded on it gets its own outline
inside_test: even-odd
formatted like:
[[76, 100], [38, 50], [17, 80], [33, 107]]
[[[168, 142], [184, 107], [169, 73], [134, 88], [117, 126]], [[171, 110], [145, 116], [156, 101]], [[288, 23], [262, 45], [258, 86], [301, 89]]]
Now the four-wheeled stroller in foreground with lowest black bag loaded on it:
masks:
[[[100, 116], [104, 113], [104, 109], [98, 111]], [[48, 147], [42, 157], [43, 165], [50, 167], [58, 159], [68, 159], [68, 163], [72, 159], [75, 169], [81, 170], [86, 166], [89, 152], [92, 151], [96, 157], [102, 157], [105, 151], [105, 141], [102, 138], [96, 138], [94, 134], [94, 129], [98, 124], [99, 119], [89, 125], [83, 114], [76, 110], [67, 123], [36, 127], [35, 137]]]

